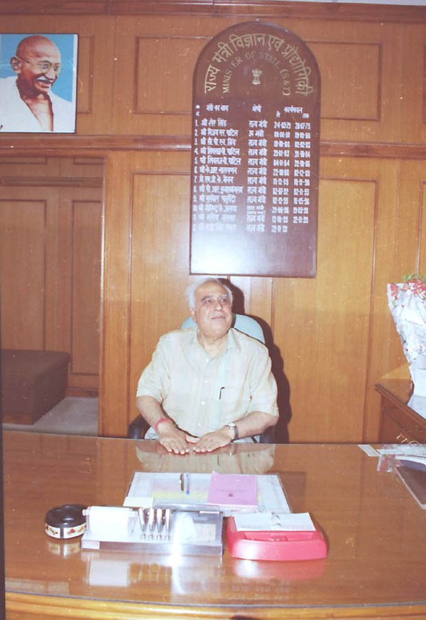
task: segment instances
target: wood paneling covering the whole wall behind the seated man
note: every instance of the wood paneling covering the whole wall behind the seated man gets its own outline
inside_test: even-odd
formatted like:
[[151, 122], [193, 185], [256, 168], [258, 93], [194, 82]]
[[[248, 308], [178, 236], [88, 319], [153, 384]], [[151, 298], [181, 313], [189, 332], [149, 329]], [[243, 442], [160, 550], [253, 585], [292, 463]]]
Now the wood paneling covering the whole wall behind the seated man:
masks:
[[[386, 284], [426, 269], [426, 10], [275, 1], [77, 0], [53, 6], [0, 0], [1, 13], [3, 32], [80, 36], [77, 134], [4, 134], [0, 151], [10, 159], [13, 153], [36, 156], [29, 164], [33, 178], [43, 176], [48, 154], [106, 161], [101, 427], [110, 435], [126, 433], [143, 366], [159, 336], [187, 315], [190, 107], [198, 53], [224, 28], [256, 18], [307, 43], [322, 75], [318, 275], [310, 281], [230, 280], [241, 289], [244, 310], [271, 330], [286, 397], [290, 389], [290, 441], [376, 440], [380, 403], [373, 386], [405, 361]], [[13, 187], [20, 208], [25, 203], [35, 218], [36, 228], [26, 235], [36, 261], [45, 261], [45, 274], [31, 287], [43, 285], [55, 299], [45, 306], [50, 328], [43, 335], [52, 348], [70, 341], [64, 325], [72, 321], [71, 293], [82, 312], [77, 322], [94, 321], [82, 303], [94, 279], [80, 282], [82, 264], [75, 263], [73, 277], [67, 265], [73, 239], [82, 262], [96, 254], [89, 232], [75, 226], [88, 216], [92, 227], [92, 212], [80, 206], [98, 202], [101, 189], [87, 178], [97, 173], [77, 176], [86, 177], [78, 189], [67, 183], [52, 188], [57, 207], [46, 211], [43, 244], [35, 230], [45, 197], [34, 190], [30, 200], [28, 187], [23, 195]], [[67, 193], [80, 205], [74, 219], [65, 208]], [[40, 338], [43, 329], [33, 336]], [[76, 368], [94, 376], [89, 342], [80, 341]]]

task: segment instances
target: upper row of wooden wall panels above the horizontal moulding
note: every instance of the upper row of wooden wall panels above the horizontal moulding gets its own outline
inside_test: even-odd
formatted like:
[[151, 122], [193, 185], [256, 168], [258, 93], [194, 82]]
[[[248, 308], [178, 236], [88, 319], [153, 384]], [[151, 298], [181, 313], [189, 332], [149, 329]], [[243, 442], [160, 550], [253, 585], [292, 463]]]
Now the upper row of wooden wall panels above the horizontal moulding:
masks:
[[[192, 73], [201, 48], [246, 19], [70, 16], [64, 25], [58, 16], [5, 16], [2, 29], [79, 34], [77, 134], [168, 136], [190, 134]], [[337, 25], [280, 18], [279, 11], [273, 22], [295, 32], [317, 56], [323, 140], [424, 142], [422, 24]]]

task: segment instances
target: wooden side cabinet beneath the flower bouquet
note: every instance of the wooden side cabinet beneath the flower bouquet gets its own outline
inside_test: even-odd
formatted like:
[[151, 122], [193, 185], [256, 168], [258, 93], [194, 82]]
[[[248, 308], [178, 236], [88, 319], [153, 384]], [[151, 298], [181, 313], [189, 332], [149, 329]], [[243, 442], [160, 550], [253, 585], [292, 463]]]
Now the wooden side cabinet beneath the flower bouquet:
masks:
[[426, 444], [426, 419], [415, 411], [415, 403], [408, 405], [413, 390], [410, 380], [381, 379], [376, 390], [381, 395], [379, 441], [383, 444], [406, 441]]

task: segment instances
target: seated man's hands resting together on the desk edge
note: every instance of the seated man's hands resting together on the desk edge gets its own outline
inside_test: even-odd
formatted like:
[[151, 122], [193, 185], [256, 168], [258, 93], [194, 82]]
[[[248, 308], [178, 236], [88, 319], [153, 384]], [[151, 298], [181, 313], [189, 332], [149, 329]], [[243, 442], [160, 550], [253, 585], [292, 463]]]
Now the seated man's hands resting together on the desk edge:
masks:
[[[173, 424], [161, 424], [158, 442], [168, 451], [175, 454], [187, 454], [190, 447], [194, 452], [212, 452], [231, 443], [229, 429], [222, 428], [206, 433], [202, 437], [193, 437], [175, 427]], [[190, 445], [189, 445], [190, 444]]]

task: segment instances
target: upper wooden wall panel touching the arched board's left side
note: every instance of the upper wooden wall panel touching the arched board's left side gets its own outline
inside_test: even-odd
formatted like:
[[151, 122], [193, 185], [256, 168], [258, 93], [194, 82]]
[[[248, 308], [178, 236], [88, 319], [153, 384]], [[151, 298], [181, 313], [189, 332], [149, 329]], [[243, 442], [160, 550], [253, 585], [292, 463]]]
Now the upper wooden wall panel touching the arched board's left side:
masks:
[[117, 18], [116, 49], [119, 58], [127, 59], [127, 68], [114, 75], [119, 94], [115, 133], [190, 134], [192, 73], [212, 21], [195, 16]]

